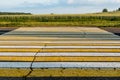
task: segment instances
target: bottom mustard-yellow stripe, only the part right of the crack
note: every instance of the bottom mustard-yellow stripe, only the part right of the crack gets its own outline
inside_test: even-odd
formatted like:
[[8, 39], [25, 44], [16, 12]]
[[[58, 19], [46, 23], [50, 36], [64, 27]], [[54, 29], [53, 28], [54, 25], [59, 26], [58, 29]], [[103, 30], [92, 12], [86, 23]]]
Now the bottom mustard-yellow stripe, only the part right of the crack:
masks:
[[34, 69], [29, 77], [118, 77], [114, 69]]

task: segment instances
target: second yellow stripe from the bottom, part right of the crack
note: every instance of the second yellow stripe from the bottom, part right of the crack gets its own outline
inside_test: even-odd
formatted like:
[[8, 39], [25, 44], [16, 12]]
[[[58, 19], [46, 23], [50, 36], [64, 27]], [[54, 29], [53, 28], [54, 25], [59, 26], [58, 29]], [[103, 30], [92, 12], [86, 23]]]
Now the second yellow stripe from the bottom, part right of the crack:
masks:
[[120, 57], [36, 57], [35, 61], [47, 61], [47, 62], [74, 62], [74, 61], [120, 61]]

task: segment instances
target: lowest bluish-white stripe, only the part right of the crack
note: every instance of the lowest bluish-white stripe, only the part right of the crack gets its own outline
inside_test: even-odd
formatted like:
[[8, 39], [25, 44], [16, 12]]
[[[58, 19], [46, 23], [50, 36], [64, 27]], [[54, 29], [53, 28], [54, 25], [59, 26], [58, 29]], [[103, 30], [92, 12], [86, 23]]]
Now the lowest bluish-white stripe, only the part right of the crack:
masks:
[[33, 68], [120, 68], [120, 62], [34, 62]]

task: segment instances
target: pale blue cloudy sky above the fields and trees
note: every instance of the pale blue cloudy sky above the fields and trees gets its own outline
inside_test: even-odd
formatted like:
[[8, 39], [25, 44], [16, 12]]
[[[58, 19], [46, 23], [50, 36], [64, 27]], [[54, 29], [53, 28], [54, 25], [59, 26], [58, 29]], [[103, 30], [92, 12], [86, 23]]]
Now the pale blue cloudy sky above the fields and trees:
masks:
[[79, 14], [116, 10], [120, 0], [0, 0], [1, 12]]

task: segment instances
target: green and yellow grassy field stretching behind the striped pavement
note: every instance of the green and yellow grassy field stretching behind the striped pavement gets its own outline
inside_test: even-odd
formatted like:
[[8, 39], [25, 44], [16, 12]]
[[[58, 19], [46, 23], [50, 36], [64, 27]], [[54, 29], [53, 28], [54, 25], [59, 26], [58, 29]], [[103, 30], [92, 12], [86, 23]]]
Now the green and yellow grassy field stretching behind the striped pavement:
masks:
[[0, 27], [21, 26], [119, 27], [120, 12], [61, 15], [0, 15]]

